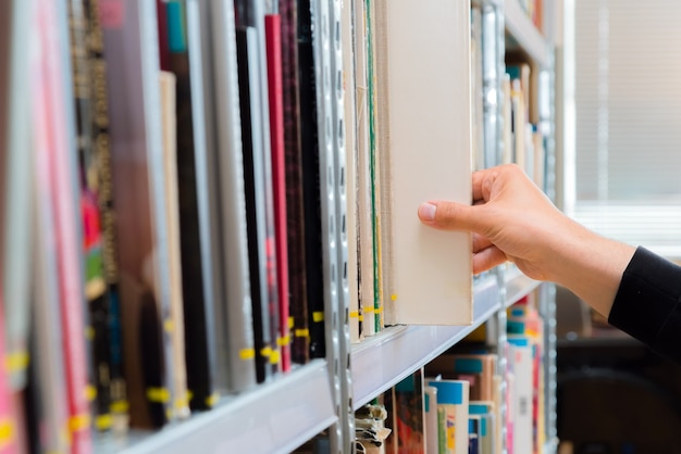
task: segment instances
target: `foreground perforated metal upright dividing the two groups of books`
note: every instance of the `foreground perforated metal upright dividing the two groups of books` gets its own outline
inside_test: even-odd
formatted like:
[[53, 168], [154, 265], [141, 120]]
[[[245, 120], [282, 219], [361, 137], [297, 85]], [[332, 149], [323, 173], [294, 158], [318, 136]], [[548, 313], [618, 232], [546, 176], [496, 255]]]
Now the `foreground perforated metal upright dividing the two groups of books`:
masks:
[[[317, 80], [320, 202], [324, 273], [326, 363], [336, 423], [330, 428], [331, 453], [351, 452], [347, 237], [345, 232], [345, 152], [339, 0], [313, 0], [312, 39]], [[354, 430], [352, 430], [354, 433]]]

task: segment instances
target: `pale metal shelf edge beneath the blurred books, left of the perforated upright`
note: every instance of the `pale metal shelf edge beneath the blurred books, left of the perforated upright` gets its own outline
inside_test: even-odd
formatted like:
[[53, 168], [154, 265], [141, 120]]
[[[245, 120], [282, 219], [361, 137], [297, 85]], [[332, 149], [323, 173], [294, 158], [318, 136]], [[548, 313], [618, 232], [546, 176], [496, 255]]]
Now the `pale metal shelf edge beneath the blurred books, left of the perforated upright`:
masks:
[[326, 362], [315, 360], [271, 383], [161, 431], [103, 439], [98, 453], [288, 453], [337, 420]]

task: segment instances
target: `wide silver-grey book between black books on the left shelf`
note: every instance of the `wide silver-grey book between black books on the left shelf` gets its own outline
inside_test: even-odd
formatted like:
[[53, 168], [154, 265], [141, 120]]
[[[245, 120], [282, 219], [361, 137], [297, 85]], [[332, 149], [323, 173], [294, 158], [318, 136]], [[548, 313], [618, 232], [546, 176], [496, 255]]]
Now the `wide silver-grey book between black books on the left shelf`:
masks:
[[199, 148], [196, 156], [197, 177], [206, 181], [199, 219], [205, 276], [210, 278], [207, 301], [214, 301], [207, 312], [214, 341], [210, 364], [216, 392], [239, 392], [257, 379], [234, 3], [188, 5], [193, 3], [199, 14], [195, 17], [194, 9], [187, 10], [188, 30], [200, 29], [202, 43], [191, 39], [198, 33], [190, 33], [190, 64], [194, 71], [202, 70], [202, 78], [193, 78], [193, 99], [203, 105], [195, 109], [195, 125], [203, 126], [196, 137], [206, 140], [205, 152]]

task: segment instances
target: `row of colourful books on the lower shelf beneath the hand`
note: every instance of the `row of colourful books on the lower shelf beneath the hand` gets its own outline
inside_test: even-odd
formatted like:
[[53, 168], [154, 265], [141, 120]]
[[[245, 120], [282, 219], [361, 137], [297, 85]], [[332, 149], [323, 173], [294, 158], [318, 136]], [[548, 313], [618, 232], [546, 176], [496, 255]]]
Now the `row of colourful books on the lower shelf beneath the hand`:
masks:
[[542, 453], [543, 321], [529, 301], [509, 308], [500, 353], [457, 345], [360, 408], [364, 452]]

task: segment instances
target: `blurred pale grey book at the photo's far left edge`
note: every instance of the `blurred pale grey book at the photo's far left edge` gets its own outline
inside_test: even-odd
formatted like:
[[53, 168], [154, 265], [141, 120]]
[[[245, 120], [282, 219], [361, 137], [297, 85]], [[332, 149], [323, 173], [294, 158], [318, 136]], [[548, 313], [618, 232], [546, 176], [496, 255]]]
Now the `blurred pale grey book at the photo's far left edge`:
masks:
[[[8, 3], [8, 2], [5, 2]], [[25, 304], [29, 299], [32, 248], [29, 206], [34, 194], [34, 153], [32, 134], [33, 113], [30, 99], [33, 74], [29, 54], [25, 49], [24, 33], [32, 29], [34, 17], [28, 2], [15, 0], [4, 4], [11, 9], [12, 26], [8, 49], [9, 64], [7, 73], [7, 112], [8, 115], [2, 148], [5, 151], [3, 199], [3, 238], [0, 239], [3, 256], [0, 258], [2, 267], [3, 300], [5, 302], [5, 350], [9, 364], [10, 387], [18, 391], [26, 383], [26, 367], [28, 365], [28, 327], [29, 306]], [[35, 64], [35, 62], [33, 62]], [[4, 70], [3, 70], [4, 71]], [[4, 266], [11, 263], [12, 266]]]

